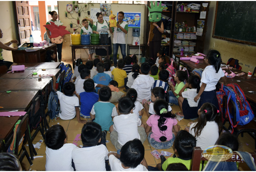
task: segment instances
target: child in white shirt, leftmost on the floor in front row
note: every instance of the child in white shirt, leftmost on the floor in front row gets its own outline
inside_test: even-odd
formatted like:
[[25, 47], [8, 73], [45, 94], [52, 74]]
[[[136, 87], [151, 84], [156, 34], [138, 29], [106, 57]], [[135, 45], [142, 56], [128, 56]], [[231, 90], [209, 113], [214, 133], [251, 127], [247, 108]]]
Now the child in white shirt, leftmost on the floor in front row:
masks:
[[61, 125], [51, 126], [45, 133], [46, 171], [74, 171], [72, 150], [76, 145], [67, 143], [66, 132]]

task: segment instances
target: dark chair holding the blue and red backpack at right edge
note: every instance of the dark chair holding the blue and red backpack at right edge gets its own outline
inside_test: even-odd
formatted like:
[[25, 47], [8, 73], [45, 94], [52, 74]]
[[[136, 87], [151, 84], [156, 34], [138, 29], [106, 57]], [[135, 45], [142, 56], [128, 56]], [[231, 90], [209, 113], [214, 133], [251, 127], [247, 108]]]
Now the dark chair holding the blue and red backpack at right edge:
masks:
[[[223, 104], [223, 110], [222, 110], [222, 115], [224, 118], [224, 122], [223, 122], [223, 126], [226, 123], [226, 121], [229, 121], [228, 116], [226, 117], [226, 110], [229, 110], [229, 113], [234, 116], [231, 120], [233, 122], [234, 125], [237, 125], [237, 120], [236, 120], [236, 105], [234, 103], [233, 100], [229, 100], [229, 109], [227, 109], [227, 96], [223, 96], [222, 99], [222, 104]], [[231, 129], [231, 124], [229, 124], [229, 127], [226, 128], [224, 126], [225, 130], [229, 130]], [[234, 127], [234, 133], [237, 135], [237, 137], [239, 136], [239, 134], [241, 134], [241, 137], [243, 137], [243, 133], [248, 133], [253, 139], [254, 139], [254, 144], [255, 144], [255, 149], [256, 149], [256, 122], [254, 120], [251, 120], [248, 124], [246, 125], [237, 125], [236, 127]]]

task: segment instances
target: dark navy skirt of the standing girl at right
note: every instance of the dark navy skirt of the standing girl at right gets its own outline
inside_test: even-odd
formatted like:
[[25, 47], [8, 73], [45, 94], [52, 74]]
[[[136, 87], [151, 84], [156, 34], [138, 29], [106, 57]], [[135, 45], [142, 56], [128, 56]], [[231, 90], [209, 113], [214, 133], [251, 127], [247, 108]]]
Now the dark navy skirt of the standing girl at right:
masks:
[[218, 103], [218, 99], [216, 96], [216, 91], [212, 90], [212, 91], [204, 91], [202, 93], [202, 95], [200, 96], [200, 100], [198, 102], [198, 109], [201, 108], [201, 106], [204, 103], [212, 103], [216, 106], [216, 108], [219, 110], [219, 103]]

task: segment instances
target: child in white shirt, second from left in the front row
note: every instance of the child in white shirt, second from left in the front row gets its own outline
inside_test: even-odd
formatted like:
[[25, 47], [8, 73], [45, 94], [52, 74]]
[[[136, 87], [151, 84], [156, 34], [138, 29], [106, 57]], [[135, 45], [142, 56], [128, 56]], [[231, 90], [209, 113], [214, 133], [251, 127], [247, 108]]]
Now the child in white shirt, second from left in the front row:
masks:
[[82, 148], [72, 151], [77, 171], [110, 171], [108, 149], [106, 147], [107, 131], [101, 133], [101, 127], [95, 122], [87, 122], [81, 133]]

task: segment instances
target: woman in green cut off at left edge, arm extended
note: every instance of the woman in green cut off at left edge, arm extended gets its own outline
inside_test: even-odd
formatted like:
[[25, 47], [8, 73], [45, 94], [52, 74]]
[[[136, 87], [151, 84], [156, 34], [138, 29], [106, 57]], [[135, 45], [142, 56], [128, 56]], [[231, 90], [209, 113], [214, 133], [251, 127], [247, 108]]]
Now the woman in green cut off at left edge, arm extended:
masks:
[[[0, 38], [2, 38], [2, 37], [3, 37], [3, 32], [2, 32], [2, 30], [1, 30], [1, 28], [0, 28]], [[8, 68], [9, 68], [10, 66], [12, 66], [12, 65], [17, 65], [17, 63], [5, 61], [2, 52], [3, 52], [3, 50], [9, 50], [9, 51], [17, 50], [17, 49], [18, 49], [17, 46], [15, 46], [14, 48], [9, 47], [12, 43], [18, 44], [19, 42], [18, 42], [18, 40], [16, 40], [16, 39], [11, 40], [11, 41], [9, 41], [9, 42], [7, 42], [7, 43], [5, 43], [5, 44], [0, 41], [0, 65], [5, 64], [5, 65], [8, 66]]]

